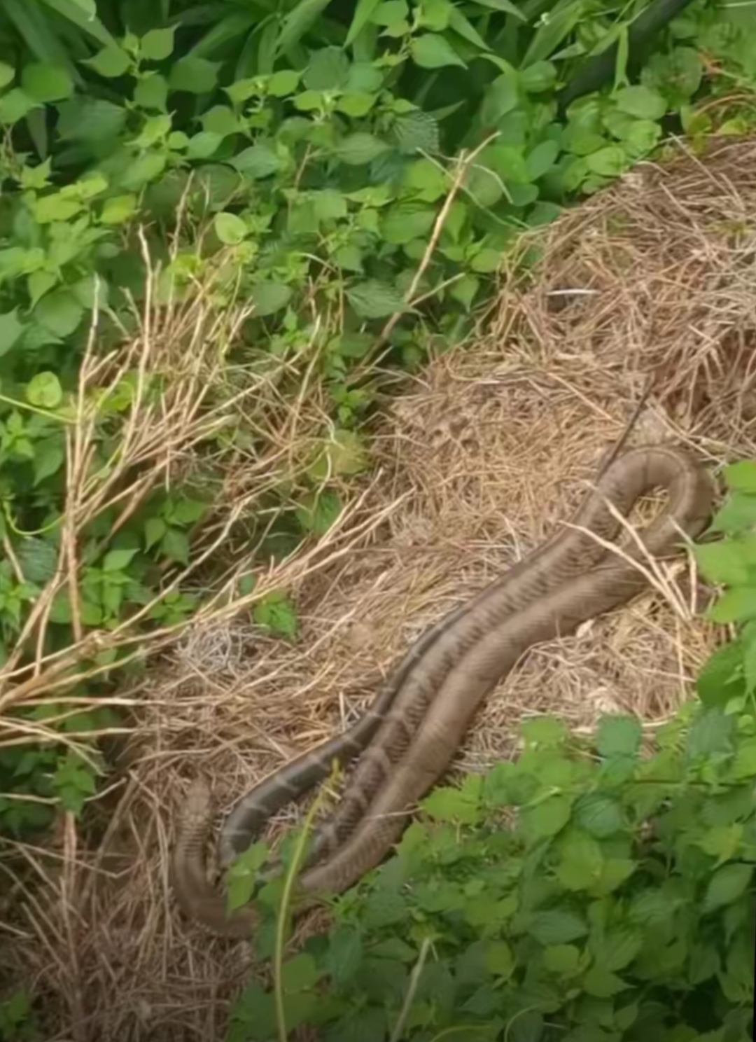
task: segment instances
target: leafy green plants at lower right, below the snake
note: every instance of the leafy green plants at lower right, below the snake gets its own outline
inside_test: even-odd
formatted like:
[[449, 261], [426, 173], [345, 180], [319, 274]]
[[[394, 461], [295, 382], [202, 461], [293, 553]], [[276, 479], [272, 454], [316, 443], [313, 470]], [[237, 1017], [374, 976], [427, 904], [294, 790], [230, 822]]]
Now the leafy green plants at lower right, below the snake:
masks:
[[[739, 636], [703, 671], [701, 700], [645, 750], [632, 717], [604, 718], [590, 741], [528, 721], [515, 763], [432, 792], [397, 854], [334, 901], [329, 934], [276, 974], [282, 1009], [247, 989], [229, 1040], [302, 1023], [328, 1042], [752, 1037], [756, 465], [727, 478], [726, 538], [697, 556], [729, 586], [712, 617]], [[258, 844], [237, 871], [263, 859]], [[259, 905], [283, 921], [280, 888]], [[263, 958], [273, 931], [257, 935]]]

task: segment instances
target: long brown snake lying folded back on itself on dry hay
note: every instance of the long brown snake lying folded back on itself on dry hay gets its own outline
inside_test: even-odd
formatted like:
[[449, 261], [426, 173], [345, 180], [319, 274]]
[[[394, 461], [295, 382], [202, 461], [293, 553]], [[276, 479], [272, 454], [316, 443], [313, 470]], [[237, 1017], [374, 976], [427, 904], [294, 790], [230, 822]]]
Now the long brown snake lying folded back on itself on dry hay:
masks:
[[[639, 539], [625, 532], [622, 553], [603, 546], [599, 540], [613, 540], [622, 527], [618, 515], [627, 516], [655, 489], [669, 493], [667, 508]], [[345, 763], [361, 753], [298, 880], [299, 890], [313, 895], [352, 886], [388, 853], [413, 805], [449, 767], [482, 700], [525, 651], [574, 632], [581, 622], [640, 592], [648, 584], [644, 559], [679, 552], [681, 534], [699, 536], [713, 496], [708, 474], [679, 448], [650, 446], [620, 456], [569, 525], [415, 642], [349, 730], [297, 758], [237, 801], [222, 829], [222, 862], [245, 850], [275, 811], [327, 777], [334, 759]], [[204, 783], [195, 782], [173, 859], [176, 896], [190, 917], [215, 933], [249, 936], [256, 921], [252, 911], [229, 916], [224, 895], [207, 882], [209, 819], [209, 793]]]

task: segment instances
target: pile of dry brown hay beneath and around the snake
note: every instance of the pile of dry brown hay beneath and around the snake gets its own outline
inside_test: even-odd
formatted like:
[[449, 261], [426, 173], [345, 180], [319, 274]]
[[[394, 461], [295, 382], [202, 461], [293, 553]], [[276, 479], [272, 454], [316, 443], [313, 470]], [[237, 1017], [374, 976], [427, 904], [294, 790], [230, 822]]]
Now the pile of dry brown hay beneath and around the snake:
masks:
[[[247, 972], [244, 945], [176, 913], [168, 855], [176, 801], [197, 771], [230, 801], [351, 722], [426, 625], [554, 530], [621, 433], [650, 373], [633, 441], [673, 438], [713, 465], [756, 453], [756, 142], [636, 170], [528, 245], [486, 334], [438, 358], [396, 401], [376, 442], [371, 542], [297, 592], [288, 646], [246, 622], [172, 649], [143, 692], [128, 779], [105, 845], [69, 826], [59, 872], [7, 938], [7, 966], [46, 1001], [46, 1039], [221, 1038]], [[679, 576], [678, 576], [679, 577]], [[689, 691], [712, 632], [672, 588], [538, 647], [478, 718], [459, 764], [514, 748], [525, 714], [589, 727], [663, 719]]]

